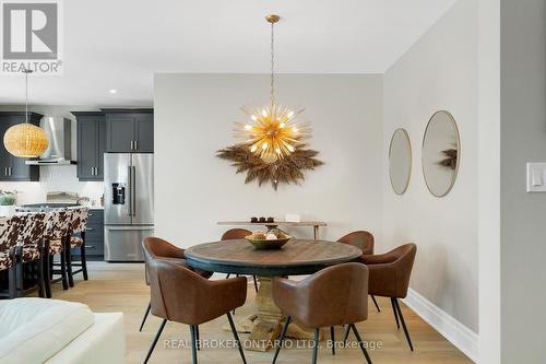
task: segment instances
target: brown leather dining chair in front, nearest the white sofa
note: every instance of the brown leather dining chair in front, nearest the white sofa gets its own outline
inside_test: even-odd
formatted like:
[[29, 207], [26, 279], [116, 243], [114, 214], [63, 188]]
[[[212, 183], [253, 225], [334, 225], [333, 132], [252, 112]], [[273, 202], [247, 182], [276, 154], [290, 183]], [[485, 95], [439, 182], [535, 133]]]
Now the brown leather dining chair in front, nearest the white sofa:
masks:
[[245, 304], [247, 280], [242, 277], [209, 281], [183, 262], [173, 259], [156, 259], [151, 253], [150, 240], [144, 240], [147, 255], [150, 286], [152, 289], [152, 315], [163, 318], [162, 325], [147, 352], [147, 363], [167, 320], [190, 326], [192, 363], [198, 363], [197, 327], [223, 315], [227, 316], [232, 332], [239, 349], [242, 363], [247, 363], [239, 336], [229, 312]]

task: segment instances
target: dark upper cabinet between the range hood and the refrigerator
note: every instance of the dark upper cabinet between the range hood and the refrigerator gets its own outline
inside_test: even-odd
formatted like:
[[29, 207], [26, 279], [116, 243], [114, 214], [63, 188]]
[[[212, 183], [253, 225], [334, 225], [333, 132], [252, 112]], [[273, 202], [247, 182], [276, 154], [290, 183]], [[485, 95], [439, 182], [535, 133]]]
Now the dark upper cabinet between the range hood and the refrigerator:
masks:
[[100, 111], [72, 111], [78, 120], [78, 179], [104, 179], [106, 117]]

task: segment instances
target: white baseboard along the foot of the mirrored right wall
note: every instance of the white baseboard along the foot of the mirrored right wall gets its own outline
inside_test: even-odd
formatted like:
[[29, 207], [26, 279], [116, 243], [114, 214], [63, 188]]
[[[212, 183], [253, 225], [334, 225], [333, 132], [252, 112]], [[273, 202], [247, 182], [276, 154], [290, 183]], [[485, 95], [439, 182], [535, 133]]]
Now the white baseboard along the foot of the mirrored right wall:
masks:
[[410, 289], [407, 297], [403, 302], [474, 363], [477, 363], [479, 336], [476, 332], [412, 289]]

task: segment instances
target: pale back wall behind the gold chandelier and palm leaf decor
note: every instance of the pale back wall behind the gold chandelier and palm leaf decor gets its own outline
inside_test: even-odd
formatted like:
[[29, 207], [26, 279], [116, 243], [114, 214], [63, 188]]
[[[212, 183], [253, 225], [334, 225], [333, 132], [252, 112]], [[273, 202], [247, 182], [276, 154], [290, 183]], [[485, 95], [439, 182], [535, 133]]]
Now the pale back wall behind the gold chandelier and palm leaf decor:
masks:
[[[379, 236], [381, 227], [381, 77], [280, 75], [280, 102], [304, 105], [312, 122], [312, 149], [325, 165], [306, 174], [302, 186], [245, 185], [216, 150], [234, 144], [242, 105], [268, 102], [269, 77], [156, 74], [156, 234], [188, 247], [216, 240], [217, 221], [253, 215], [328, 222], [322, 237], [357, 228]], [[293, 233], [311, 236], [311, 230]]]

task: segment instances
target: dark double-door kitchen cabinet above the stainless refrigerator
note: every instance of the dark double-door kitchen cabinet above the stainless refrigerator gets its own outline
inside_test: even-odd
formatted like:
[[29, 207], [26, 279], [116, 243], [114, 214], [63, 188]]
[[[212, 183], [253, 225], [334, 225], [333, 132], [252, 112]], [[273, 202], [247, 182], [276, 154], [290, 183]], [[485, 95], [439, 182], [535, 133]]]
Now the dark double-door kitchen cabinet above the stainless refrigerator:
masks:
[[153, 153], [154, 109], [103, 109], [108, 153]]

